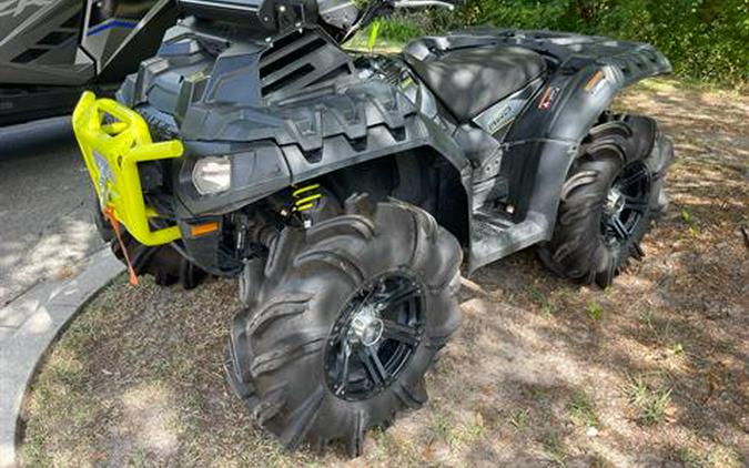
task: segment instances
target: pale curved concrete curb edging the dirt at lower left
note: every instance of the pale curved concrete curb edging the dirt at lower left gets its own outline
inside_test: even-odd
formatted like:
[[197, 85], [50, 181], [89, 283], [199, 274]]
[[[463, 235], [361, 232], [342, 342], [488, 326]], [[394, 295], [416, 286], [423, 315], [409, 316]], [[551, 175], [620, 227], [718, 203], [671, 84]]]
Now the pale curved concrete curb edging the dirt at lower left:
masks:
[[73, 278], [34, 286], [0, 309], [0, 468], [16, 466], [19, 414], [48, 346], [82, 305], [124, 269], [109, 248], [93, 254]]

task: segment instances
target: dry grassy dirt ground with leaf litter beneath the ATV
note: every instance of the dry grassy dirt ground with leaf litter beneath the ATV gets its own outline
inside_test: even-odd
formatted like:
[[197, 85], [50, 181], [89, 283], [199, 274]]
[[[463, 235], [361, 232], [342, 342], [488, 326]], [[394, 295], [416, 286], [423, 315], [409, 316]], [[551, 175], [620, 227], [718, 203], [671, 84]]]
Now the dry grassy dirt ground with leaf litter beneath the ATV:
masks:
[[287, 454], [221, 370], [235, 285], [133, 289], [72, 323], [26, 401], [26, 466], [746, 467], [749, 96], [649, 81], [620, 109], [676, 140], [672, 204], [608, 291], [524, 252], [464, 281], [429, 401], [364, 456]]

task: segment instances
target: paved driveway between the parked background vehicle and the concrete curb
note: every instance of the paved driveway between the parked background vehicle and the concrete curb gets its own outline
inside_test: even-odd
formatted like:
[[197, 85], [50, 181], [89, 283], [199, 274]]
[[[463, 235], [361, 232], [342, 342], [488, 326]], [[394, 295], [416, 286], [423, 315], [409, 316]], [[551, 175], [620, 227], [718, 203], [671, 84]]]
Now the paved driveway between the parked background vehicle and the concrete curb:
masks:
[[0, 129], [0, 307], [103, 246], [89, 186], [70, 118]]

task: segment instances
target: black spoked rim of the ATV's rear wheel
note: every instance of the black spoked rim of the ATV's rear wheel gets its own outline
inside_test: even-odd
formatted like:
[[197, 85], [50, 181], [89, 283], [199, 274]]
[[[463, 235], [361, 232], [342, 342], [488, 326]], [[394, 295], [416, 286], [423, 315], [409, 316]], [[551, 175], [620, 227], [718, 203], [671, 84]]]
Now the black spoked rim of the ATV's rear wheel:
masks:
[[609, 244], [629, 241], [646, 218], [650, 203], [650, 173], [642, 162], [625, 167], [604, 204], [601, 234]]

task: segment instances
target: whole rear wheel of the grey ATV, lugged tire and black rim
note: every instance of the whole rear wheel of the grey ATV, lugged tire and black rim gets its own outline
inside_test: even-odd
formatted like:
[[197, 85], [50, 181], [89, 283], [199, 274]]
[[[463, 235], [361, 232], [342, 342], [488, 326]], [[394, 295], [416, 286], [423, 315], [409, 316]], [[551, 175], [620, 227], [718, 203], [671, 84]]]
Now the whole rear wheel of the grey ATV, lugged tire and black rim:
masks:
[[667, 199], [664, 176], [674, 156], [655, 120], [605, 115], [569, 171], [551, 241], [539, 250], [559, 276], [606, 288], [630, 258]]

